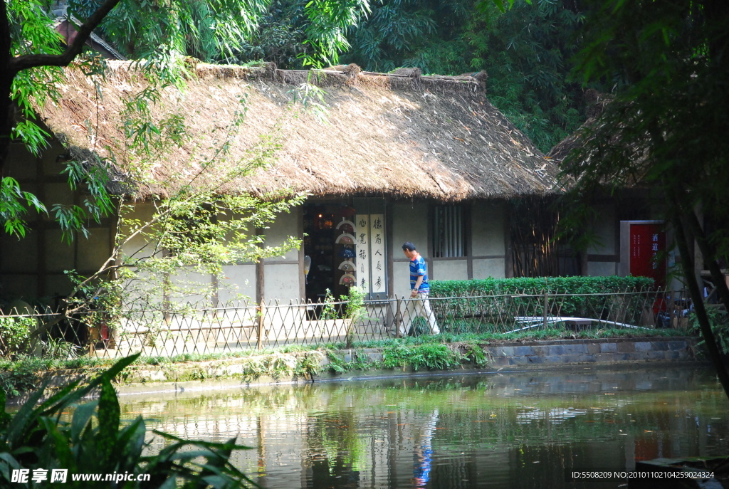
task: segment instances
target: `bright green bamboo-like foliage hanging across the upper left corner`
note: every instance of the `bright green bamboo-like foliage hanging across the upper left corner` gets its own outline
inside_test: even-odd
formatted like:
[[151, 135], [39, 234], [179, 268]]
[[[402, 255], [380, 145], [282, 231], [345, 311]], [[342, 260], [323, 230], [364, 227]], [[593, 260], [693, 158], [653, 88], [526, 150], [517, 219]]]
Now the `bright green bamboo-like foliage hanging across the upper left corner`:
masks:
[[[8, 175], [6, 163], [11, 141], [21, 141], [39, 154], [49, 135], [36, 124], [35, 110], [58, 100], [61, 66], [78, 60], [89, 74], [103, 74], [98, 58], [79, 58], [91, 32], [101, 28], [112, 43], [133, 58], [157, 87], [184, 87], [184, 55], [203, 60], [235, 60], [254, 33], [268, 0], [70, 0], [69, 14], [81, 20], [78, 33], [66, 45], [54, 30], [50, 0], [0, 1], [0, 224], [4, 231], [23, 237], [29, 208], [61, 224], [66, 237], [83, 230], [88, 219], [112, 212], [112, 199], [100, 181], [105, 169], [96, 166], [66, 174], [69, 186], [85, 187], [90, 197], [83, 206], [43, 203], [20, 189]], [[305, 63], [336, 61], [347, 47], [343, 32], [367, 12], [367, 0], [316, 0], [305, 4], [308, 19], [305, 42], [311, 46]], [[153, 96], [157, 87], [148, 94]]]

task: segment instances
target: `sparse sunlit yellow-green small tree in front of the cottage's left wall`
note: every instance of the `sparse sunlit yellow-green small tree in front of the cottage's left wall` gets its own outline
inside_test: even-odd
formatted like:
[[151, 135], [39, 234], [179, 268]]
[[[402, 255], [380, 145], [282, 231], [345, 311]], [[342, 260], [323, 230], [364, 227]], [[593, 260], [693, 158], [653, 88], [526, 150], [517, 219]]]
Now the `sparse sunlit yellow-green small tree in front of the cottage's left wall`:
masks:
[[[125, 188], [115, 197], [117, 224], [112, 253], [93, 274], [66, 271], [74, 286], [63, 300], [63, 310], [47, 316], [31, 333], [29, 342], [66, 319], [80, 320], [89, 329], [102, 322], [113, 329], [122, 322], [138, 324], [135, 321], [141, 315], [141, 322], [150, 326], [153, 311], [171, 313], [194, 307], [177, 304], [178, 299], [202, 296], [210, 305], [212, 295], [229, 286], [224, 265], [283, 256], [300, 245], [293, 237], [275, 246], [265, 244], [265, 236], [256, 231], [267, 229], [278, 214], [303, 203], [304, 194], [290, 197], [280, 192], [259, 198], [222, 192], [257, 169], [270, 166], [279, 146], [273, 132], [246, 148], [242, 157], [233, 157], [231, 149], [245, 115], [243, 98], [230, 121], [217, 121], [227, 124], [218, 128], [225, 136], [206, 146], [192, 140], [176, 106], [160, 103], [152, 110], [138, 97], [125, 101], [120, 121], [125, 137], [114, 143], [114, 151], [126, 156], [125, 185], [160, 189], [163, 195], [149, 197], [152, 211], [144, 219], [136, 213], [139, 203], [133, 189]], [[144, 130], [138, 129], [140, 124]], [[172, 172], [164, 180], [152, 177], [151, 169], [170, 160], [180, 146], [191, 151], [189, 160], [195, 165]], [[98, 176], [97, 181], [106, 184], [106, 176]], [[190, 273], [208, 279], [186, 280]], [[216, 278], [214, 283], [211, 275]], [[159, 316], [160, 324], [155, 326], [161, 327], [162, 318]]]

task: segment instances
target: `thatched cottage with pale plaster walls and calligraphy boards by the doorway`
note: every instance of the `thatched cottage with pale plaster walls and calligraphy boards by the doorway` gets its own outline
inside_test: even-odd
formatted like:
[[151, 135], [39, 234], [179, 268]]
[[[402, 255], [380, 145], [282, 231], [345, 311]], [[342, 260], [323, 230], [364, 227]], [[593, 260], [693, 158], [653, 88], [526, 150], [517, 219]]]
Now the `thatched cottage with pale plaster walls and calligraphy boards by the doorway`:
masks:
[[[125, 158], [131, 156], [120, 143], [126, 137], [120, 114], [147, 81], [130, 63], [109, 64], [103, 80], [66, 70], [63, 97], [39, 111], [54, 135], [42, 157], [20, 145], [12, 149], [9, 174], [44, 201], [78, 198], [59, 173], [58, 162], [69, 154], [113, 153], [119, 178], [125, 178], [130, 163]], [[416, 243], [434, 279], [509, 276], [507, 201], [561, 192], [556, 165], [488, 103], [481, 77], [368, 73], [354, 65], [307, 72], [200, 64], [191, 71], [184, 93], [163, 90], [152, 110], [184, 114], [192, 139], [149, 169], [145, 183], [136, 186], [136, 208], [144, 216], [150, 206], [145, 199], [166, 191], [155, 182], [198, 168], [200, 154], [213, 151], [246, 98], [246, 117], [230, 146], [232, 159], [270, 130], [277, 131], [281, 147], [272, 168], [221, 191], [308, 194], [303, 206], [283, 214], [266, 232], [272, 243], [289, 235], [302, 238], [301, 249], [226, 269], [230, 280], [257, 300], [316, 300], [324, 289], [339, 294], [352, 281], [364, 282], [373, 296], [402, 296], [409, 288], [408, 260], [400, 249], [405, 241]], [[290, 108], [307, 80], [324, 90], [323, 100], [306, 101], [324, 106], [326, 122], [311, 111]], [[95, 271], [109, 257], [115, 225], [113, 218], [91, 224], [90, 236], [70, 246], [42, 216], [23, 240], [3, 236], [4, 294], [31, 300], [68, 293], [63, 271]], [[350, 242], [354, 247], [344, 246]], [[346, 256], [344, 248], [354, 249], [355, 257]], [[308, 281], [306, 256], [312, 260]], [[354, 266], [343, 266], [347, 260]], [[225, 294], [218, 300], [225, 301]]]

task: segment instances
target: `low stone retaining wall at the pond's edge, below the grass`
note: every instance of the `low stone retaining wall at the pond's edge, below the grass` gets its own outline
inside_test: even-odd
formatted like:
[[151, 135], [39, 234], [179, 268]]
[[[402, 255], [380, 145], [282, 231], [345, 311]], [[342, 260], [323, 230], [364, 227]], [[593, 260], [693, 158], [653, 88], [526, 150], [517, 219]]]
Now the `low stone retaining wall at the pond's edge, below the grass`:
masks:
[[[485, 366], [475, 367], [472, 364], [460, 364], [460, 372], [504, 372], [523, 369], [569, 369], [571, 366], [660, 364], [668, 362], [696, 361], [695, 337], [642, 337], [642, 338], [607, 338], [588, 340], [550, 340], [523, 343], [500, 343], [484, 345], [483, 351], [488, 359]], [[364, 377], [385, 377], [391, 375], [438, 375], [443, 370], [421, 369], [382, 369], [383, 351], [378, 348], [362, 348], [333, 352], [344, 363], [359, 359], [359, 365], [371, 362], [371, 369], [352, 369], [343, 373], [332, 372], [331, 359], [321, 356], [320, 372], [312, 377], [308, 375], [248, 375], [246, 362], [208, 361], [202, 364], [178, 364], [174, 370], [145, 367], [138, 369], [128, 377], [129, 383], [120, 386], [122, 394], [156, 391], [206, 390], [214, 388], [234, 388], [236, 386], [254, 386], [270, 383], [308, 382], [321, 380], [356, 380]], [[311, 354], [311, 353], [309, 353]], [[362, 361], [364, 359], [364, 362]], [[248, 360], [249, 361], [249, 360]], [[453, 369], [451, 369], [451, 372]], [[201, 380], [182, 380], [190, 378], [189, 373], [196, 372], [193, 377], [205, 377]], [[144, 379], [144, 383], [139, 380]], [[175, 380], [178, 381], [175, 381]]]

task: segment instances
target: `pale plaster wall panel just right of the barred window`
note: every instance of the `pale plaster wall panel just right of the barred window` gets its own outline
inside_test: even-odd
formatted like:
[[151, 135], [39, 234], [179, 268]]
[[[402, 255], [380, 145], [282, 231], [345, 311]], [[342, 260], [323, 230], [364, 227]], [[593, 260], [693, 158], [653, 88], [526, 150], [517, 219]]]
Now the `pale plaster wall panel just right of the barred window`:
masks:
[[[482, 200], [473, 203], [471, 206], [471, 230], [472, 254], [474, 257], [504, 255], [505, 216], [506, 205], [504, 203]], [[499, 276], [503, 275], [504, 271], [502, 270]]]

